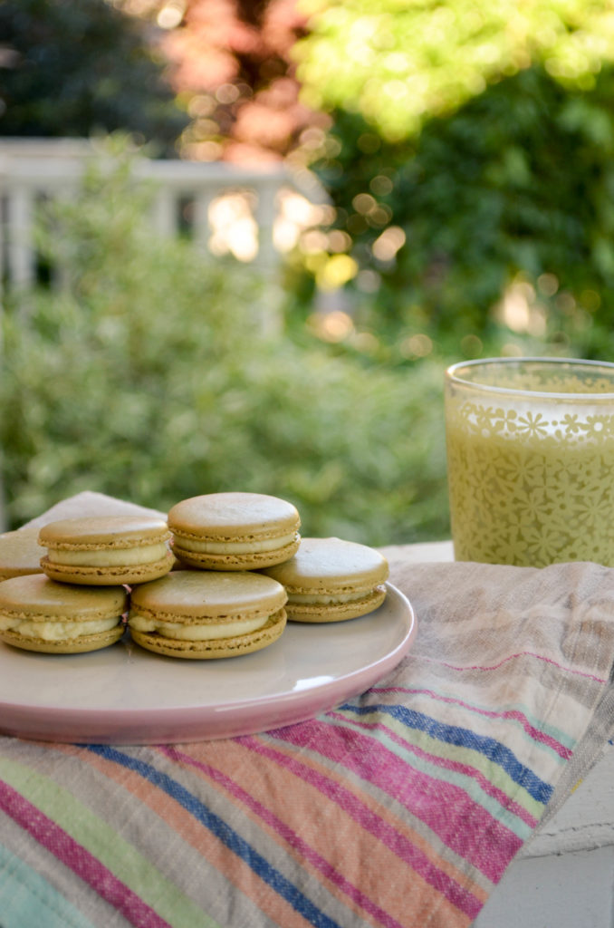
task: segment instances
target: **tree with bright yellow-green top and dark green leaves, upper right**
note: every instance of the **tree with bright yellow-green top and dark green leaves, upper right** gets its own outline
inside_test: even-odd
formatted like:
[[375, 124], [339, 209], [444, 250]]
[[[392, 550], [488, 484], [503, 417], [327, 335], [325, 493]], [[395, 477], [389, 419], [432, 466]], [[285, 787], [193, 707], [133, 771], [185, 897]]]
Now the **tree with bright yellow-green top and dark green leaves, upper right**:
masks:
[[396, 360], [611, 357], [610, 4], [310, 7], [299, 74], [333, 117], [313, 167], [358, 324]]

